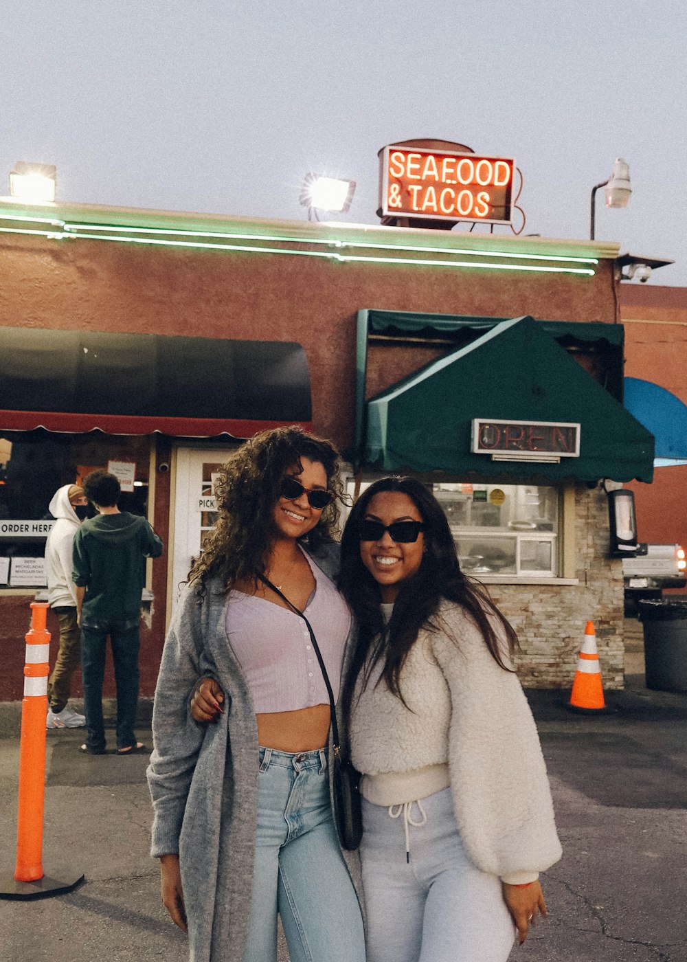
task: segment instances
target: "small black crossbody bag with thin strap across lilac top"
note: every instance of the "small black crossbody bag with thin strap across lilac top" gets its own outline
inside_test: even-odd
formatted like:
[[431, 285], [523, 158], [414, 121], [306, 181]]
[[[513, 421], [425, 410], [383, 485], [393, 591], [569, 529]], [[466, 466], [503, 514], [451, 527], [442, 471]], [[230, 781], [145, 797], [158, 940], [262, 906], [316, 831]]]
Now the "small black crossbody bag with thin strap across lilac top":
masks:
[[319, 651], [318, 640], [310, 621], [303, 612], [296, 608], [286, 595], [282, 595], [276, 585], [273, 585], [263, 575], [260, 580], [270, 588], [275, 595], [279, 595], [282, 601], [286, 601], [294, 614], [305, 621], [305, 625], [310, 634], [310, 640], [318, 656], [319, 668], [324, 678], [324, 684], [329, 696], [329, 708], [332, 717], [332, 737], [334, 742], [334, 765], [332, 771], [332, 782], [334, 787], [334, 823], [337, 826], [337, 833], [342, 848], [358, 848], [363, 837], [363, 812], [360, 800], [360, 772], [357, 772], [347, 754], [342, 752], [341, 741], [339, 739], [339, 725], [337, 724], [336, 706], [332, 686], [329, 683], [329, 675], [324, 667], [324, 662]]

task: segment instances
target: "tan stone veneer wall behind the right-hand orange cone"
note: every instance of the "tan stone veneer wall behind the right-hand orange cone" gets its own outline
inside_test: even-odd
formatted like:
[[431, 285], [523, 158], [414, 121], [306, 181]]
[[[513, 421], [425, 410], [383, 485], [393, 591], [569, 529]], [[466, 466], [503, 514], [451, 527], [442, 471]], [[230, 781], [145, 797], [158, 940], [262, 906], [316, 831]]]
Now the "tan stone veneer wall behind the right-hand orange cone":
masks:
[[603, 687], [623, 688], [622, 561], [608, 557], [608, 501], [600, 486], [576, 486], [574, 537], [579, 584], [489, 585], [489, 593], [518, 632], [526, 688], [573, 685], [588, 620], [597, 632]]

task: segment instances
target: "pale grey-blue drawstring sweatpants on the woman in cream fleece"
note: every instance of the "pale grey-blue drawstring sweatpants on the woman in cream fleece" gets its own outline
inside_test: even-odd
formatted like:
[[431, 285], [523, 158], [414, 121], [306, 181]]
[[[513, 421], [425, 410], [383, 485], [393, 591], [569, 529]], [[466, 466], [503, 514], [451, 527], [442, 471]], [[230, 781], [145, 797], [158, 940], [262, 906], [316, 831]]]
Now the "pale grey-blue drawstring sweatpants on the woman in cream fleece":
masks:
[[[468, 858], [451, 790], [403, 806], [363, 799], [368, 962], [506, 962], [515, 924], [496, 875]], [[423, 818], [426, 817], [426, 821]]]

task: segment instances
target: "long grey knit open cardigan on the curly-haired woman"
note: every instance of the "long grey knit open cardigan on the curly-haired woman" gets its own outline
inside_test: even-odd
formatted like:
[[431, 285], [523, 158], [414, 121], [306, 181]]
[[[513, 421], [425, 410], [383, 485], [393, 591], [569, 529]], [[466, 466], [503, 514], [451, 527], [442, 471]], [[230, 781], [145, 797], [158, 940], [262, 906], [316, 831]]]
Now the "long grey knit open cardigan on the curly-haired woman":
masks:
[[[336, 576], [338, 544], [309, 553]], [[208, 582], [202, 599], [186, 587], [165, 641], [153, 711], [151, 854], [179, 854], [191, 962], [241, 962], [250, 913], [258, 725], [226, 634], [228, 603], [217, 581]], [[226, 696], [216, 724], [191, 719], [189, 697], [201, 674], [214, 675]], [[343, 730], [339, 715], [338, 708]], [[330, 740], [330, 776], [331, 755]], [[344, 851], [344, 858], [362, 901], [357, 853]]]

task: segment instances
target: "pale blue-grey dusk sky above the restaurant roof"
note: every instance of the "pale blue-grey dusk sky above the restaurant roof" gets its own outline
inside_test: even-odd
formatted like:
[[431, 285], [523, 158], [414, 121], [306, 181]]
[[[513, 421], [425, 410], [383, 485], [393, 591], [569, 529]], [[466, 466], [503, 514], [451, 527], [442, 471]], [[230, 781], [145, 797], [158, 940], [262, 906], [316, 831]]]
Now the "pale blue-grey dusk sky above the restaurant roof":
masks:
[[684, 287], [685, 37], [684, 0], [7, 4], [0, 193], [23, 160], [67, 203], [302, 220], [315, 171], [357, 183], [331, 219], [374, 224], [377, 151], [429, 137], [515, 157], [523, 234], [584, 240], [623, 157], [597, 239]]

